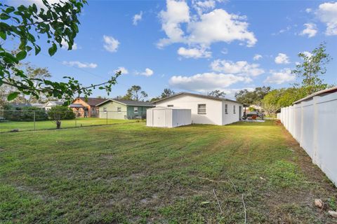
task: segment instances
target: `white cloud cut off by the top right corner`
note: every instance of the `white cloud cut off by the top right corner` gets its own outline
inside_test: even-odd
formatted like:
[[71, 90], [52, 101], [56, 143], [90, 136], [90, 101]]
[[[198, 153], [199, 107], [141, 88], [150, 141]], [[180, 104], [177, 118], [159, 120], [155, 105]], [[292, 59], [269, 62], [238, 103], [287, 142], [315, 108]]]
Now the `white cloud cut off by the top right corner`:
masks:
[[319, 20], [326, 24], [325, 34], [327, 36], [337, 35], [337, 2], [320, 4], [316, 14]]

